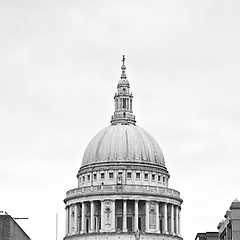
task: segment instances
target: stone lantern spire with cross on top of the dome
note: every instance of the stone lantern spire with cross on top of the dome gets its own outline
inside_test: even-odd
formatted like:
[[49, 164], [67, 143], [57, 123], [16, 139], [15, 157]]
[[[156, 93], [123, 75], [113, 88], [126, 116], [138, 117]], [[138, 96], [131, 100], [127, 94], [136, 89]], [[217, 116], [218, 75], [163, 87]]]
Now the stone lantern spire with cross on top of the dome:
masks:
[[130, 85], [125, 73], [125, 56], [122, 59], [122, 74], [118, 81], [117, 92], [114, 96], [115, 112], [112, 116], [111, 124], [134, 124], [135, 116], [132, 111], [132, 93], [130, 93]]

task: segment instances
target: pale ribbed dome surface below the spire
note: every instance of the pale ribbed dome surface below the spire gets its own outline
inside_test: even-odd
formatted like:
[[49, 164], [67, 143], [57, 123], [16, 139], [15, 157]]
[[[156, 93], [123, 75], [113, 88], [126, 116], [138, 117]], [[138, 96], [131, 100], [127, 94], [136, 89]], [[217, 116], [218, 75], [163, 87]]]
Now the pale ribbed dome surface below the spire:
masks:
[[88, 144], [82, 166], [111, 161], [146, 162], [165, 166], [156, 140], [133, 124], [111, 125], [99, 132]]

